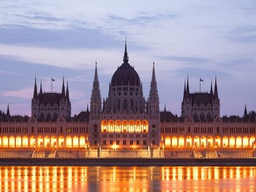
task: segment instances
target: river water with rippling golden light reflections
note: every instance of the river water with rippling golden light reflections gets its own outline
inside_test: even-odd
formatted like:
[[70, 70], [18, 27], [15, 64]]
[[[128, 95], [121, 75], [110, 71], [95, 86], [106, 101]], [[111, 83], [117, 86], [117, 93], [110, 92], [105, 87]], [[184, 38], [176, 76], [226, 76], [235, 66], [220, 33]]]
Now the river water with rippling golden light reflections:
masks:
[[1, 166], [1, 191], [256, 191], [256, 167]]

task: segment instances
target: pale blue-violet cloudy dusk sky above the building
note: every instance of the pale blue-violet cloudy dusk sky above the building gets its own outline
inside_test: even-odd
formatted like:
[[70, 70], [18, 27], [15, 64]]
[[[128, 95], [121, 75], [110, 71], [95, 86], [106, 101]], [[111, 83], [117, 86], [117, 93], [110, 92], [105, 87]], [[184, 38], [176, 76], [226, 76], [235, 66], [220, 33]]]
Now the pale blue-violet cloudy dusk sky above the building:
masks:
[[[102, 99], [123, 63], [148, 98], [155, 62], [160, 109], [180, 115], [184, 79], [210, 91], [217, 77], [221, 115], [256, 110], [256, 1], [1, 1], [0, 110], [30, 115], [34, 91], [68, 80], [72, 115], [90, 104], [95, 62]], [[39, 91], [39, 90], [38, 90]]]

